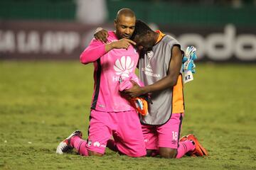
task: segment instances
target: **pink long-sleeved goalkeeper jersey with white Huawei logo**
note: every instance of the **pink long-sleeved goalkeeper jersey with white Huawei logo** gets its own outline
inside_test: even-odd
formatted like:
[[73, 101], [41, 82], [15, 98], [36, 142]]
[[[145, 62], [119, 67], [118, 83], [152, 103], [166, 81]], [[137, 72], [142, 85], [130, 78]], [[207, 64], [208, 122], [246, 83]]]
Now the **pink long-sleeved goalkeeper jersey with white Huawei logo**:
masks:
[[[117, 41], [113, 31], [109, 32], [109, 42]], [[126, 49], [105, 52], [105, 44], [92, 39], [90, 45], [80, 55], [83, 64], [94, 63], [94, 93], [91, 108], [97, 111], [134, 111], [129, 101], [120, 96], [119, 77], [124, 79], [134, 73], [139, 54], [132, 45]]]

